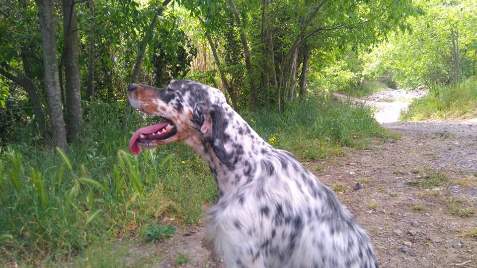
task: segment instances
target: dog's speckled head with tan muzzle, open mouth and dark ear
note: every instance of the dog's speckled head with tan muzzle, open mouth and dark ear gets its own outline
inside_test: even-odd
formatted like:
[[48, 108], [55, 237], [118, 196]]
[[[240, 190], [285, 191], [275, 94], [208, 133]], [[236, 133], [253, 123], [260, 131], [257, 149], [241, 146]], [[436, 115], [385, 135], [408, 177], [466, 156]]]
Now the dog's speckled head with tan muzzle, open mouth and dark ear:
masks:
[[226, 159], [228, 122], [224, 117], [231, 114], [232, 108], [220, 90], [190, 80], [172, 80], [164, 88], [131, 84], [128, 98], [139, 111], [159, 118], [159, 123], [133, 134], [129, 142], [132, 153], [140, 153], [141, 147], [178, 141], [189, 145], [211, 141], [219, 159]]

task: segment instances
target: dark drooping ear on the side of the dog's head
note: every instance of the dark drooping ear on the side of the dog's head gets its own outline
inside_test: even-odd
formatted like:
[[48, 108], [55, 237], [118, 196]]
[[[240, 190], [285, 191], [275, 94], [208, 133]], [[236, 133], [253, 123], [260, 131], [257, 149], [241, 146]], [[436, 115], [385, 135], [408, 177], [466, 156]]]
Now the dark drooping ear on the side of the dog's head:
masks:
[[192, 113], [192, 121], [200, 127], [200, 132], [204, 135], [204, 139], [210, 142], [217, 158], [228, 165], [230, 159], [224, 142], [229, 139], [229, 135], [225, 133], [228, 122], [224, 118], [224, 110], [211, 103], [197, 103]]

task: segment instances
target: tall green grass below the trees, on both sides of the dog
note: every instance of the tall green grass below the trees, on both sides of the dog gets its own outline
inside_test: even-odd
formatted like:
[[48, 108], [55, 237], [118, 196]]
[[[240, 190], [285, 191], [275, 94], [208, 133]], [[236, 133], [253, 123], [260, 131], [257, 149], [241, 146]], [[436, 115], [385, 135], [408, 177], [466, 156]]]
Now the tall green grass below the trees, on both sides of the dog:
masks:
[[[286, 108], [242, 116], [302, 160], [390, 135], [365, 106], [312, 100]], [[164, 217], [199, 223], [202, 206], [216, 199], [214, 179], [185, 144], [130, 155], [129, 137], [148, 120], [122, 104], [95, 103], [83, 136], [66, 152], [26, 143], [1, 148], [0, 266], [62, 262], [98, 242], [141, 234]]]

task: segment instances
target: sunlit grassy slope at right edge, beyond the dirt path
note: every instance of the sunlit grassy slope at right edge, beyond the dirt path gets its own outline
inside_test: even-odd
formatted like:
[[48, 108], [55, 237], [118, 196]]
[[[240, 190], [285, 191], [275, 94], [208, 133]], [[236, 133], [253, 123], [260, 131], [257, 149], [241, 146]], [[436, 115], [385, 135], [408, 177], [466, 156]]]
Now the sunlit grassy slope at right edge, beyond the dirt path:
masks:
[[471, 78], [457, 87], [432, 86], [429, 94], [416, 99], [407, 112], [401, 113], [401, 120], [476, 118], [476, 107], [477, 78]]

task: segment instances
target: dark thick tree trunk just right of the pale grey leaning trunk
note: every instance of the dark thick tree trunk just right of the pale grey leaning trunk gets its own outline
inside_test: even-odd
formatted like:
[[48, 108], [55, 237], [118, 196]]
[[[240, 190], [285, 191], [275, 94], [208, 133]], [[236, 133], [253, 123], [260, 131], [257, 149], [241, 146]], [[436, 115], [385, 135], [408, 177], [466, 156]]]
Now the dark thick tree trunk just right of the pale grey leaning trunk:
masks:
[[81, 92], [79, 81], [78, 16], [74, 0], [63, 0], [63, 63], [66, 79], [66, 126], [68, 141], [75, 140], [81, 130]]

